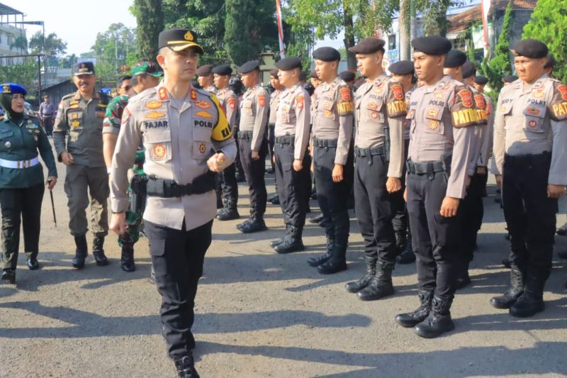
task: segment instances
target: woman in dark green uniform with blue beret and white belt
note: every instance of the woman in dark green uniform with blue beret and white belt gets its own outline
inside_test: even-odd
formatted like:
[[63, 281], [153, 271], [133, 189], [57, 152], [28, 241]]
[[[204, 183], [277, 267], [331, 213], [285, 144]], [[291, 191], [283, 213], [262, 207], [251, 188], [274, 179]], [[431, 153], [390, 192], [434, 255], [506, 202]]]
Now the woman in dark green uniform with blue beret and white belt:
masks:
[[47, 186], [55, 187], [57, 169], [51, 145], [39, 120], [24, 113], [26, 89], [19, 84], [1, 84], [0, 106], [6, 115], [0, 121], [0, 208], [2, 212], [1, 281], [16, 283], [20, 223], [28, 268], [38, 269], [43, 167], [47, 165]]

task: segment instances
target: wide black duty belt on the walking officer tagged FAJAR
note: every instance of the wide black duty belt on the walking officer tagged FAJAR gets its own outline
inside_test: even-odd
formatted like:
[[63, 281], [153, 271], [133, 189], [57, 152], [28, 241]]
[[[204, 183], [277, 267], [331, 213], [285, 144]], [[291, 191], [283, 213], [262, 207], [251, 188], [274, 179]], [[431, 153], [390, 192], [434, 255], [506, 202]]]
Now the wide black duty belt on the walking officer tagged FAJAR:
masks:
[[158, 179], [150, 176], [147, 180], [147, 195], [162, 198], [203, 194], [215, 189], [215, 172], [207, 171], [195, 177], [191, 184], [177, 184], [174, 180]]

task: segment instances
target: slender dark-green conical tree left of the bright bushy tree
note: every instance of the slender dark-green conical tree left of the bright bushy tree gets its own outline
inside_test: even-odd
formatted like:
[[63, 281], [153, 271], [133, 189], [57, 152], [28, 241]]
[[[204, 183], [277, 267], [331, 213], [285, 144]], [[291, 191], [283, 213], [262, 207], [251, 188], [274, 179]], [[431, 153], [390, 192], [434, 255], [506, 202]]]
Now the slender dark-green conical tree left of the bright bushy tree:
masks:
[[503, 87], [502, 77], [512, 74], [512, 63], [510, 62], [510, 28], [512, 25], [512, 0], [504, 13], [502, 31], [498, 36], [498, 43], [494, 48], [494, 57], [488, 60], [488, 54], [484, 57], [481, 70], [488, 78], [488, 85], [498, 94]]

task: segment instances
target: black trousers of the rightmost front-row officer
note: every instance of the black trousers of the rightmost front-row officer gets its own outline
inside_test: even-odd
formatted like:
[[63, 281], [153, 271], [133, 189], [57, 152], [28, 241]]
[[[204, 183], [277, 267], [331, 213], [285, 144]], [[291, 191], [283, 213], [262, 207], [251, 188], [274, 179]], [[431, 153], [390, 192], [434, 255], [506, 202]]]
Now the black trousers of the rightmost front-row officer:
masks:
[[[504, 158], [502, 204], [510, 233], [510, 262], [549, 276], [557, 199], [547, 196], [551, 153]], [[545, 277], [547, 278], [547, 277]]]

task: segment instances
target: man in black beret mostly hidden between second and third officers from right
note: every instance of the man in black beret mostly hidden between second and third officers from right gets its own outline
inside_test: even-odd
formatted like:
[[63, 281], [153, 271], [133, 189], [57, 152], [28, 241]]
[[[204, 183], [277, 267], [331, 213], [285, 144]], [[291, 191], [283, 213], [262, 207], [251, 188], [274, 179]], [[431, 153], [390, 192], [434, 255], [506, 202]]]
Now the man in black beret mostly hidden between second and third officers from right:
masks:
[[[393, 81], [402, 84], [405, 93], [405, 105], [406, 108], [408, 108], [412, 91], [415, 89], [415, 68], [413, 67], [413, 62], [410, 62], [410, 60], [400, 60], [390, 65], [388, 71], [391, 72]], [[404, 119], [403, 122], [403, 142], [405, 162], [405, 160], [408, 160], [408, 150], [410, 147], [410, 122], [407, 119]], [[395, 216], [392, 221], [395, 233], [395, 244], [399, 253], [399, 255], [395, 257], [395, 261], [400, 264], [410, 264], [415, 261], [415, 253], [413, 253], [412, 250], [412, 233], [410, 231], [410, 222], [408, 221], [408, 209], [407, 206], [405, 206], [405, 199], [403, 199], [406, 174], [404, 164], [401, 177], [402, 189], [396, 191], [394, 194], [397, 200]]]

